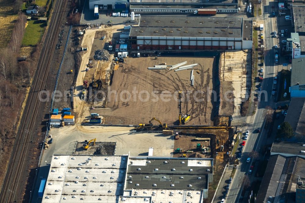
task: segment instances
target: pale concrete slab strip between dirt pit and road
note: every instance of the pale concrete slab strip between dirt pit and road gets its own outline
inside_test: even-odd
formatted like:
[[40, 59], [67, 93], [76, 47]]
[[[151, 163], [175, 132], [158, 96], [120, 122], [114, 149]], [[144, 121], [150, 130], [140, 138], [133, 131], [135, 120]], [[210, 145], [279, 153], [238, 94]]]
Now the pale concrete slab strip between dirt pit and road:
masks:
[[251, 89], [251, 50], [222, 53], [219, 75], [220, 115], [231, 115], [235, 121], [234, 118], [240, 116], [242, 100]]

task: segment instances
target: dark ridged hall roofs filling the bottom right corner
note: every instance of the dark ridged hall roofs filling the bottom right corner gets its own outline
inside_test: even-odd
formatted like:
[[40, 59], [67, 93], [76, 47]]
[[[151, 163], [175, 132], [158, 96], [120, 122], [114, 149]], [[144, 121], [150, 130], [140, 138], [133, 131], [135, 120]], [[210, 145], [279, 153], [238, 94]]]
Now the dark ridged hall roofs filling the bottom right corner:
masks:
[[256, 202], [296, 202], [295, 192], [296, 188], [299, 188], [299, 175], [305, 173], [304, 165], [305, 159], [298, 156], [272, 155], [260, 184]]

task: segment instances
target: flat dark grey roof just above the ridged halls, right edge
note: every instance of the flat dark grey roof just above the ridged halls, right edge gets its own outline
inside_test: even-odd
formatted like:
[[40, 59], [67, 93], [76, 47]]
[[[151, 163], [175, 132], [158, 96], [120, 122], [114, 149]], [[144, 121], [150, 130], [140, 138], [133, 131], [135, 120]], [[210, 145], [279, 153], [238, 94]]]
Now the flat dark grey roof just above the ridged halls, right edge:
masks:
[[273, 154], [282, 154], [285, 156], [299, 155], [304, 156], [305, 147], [303, 147], [301, 142], [289, 142], [289, 141], [274, 141], [271, 147], [271, 155]]

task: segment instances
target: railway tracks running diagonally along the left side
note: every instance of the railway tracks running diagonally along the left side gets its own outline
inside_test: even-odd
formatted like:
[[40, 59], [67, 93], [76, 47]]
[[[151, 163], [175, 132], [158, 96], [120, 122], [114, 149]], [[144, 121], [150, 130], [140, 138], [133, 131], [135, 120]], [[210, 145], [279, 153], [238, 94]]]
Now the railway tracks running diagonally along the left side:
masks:
[[1, 203], [16, 202], [23, 192], [21, 191], [22, 188], [18, 191], [18, 187], [21, 186], [18, 185], [18, 183], [20, 177], [24, 178], [23, 174], [27, 173], [25, 171], [24, 162], [28, 159], [26, 155], [29, 150], [28, 147], [31, 137], [30, 132], [34, 128], [37, 115], [39, 114], [39, 94], [40, 91], [44, 90], [46, 85], [45, 83], [47, 81], [50, 63], [57, 43], [59, 26], [61, 25], [60, 22], [65, 14], [67, 2], [67, 0], [59, 0], [56, 1], [54, 5], [52, 19], [39, 57], [38, 68], [33, 78], [27, 104], [24, 109], [20, 127], [16, 134], [13, 151], [9, 159], [9, 165], [2, 183], [0, 193]]

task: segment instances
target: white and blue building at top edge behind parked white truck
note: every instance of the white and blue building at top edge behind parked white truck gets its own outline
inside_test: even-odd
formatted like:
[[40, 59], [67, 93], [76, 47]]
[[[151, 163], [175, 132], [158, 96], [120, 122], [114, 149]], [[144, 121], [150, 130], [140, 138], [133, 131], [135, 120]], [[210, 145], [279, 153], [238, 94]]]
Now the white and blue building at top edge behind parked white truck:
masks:
[[115, 10], [116, 4], [119, 5], [120, 9], [122, 9], [120, 4], [124, 4], [125, 9], [129, 7], [128, 0], [89, 0], [89, 9], [93, 10], [95, 5], [99, 5], [99, 10]]

